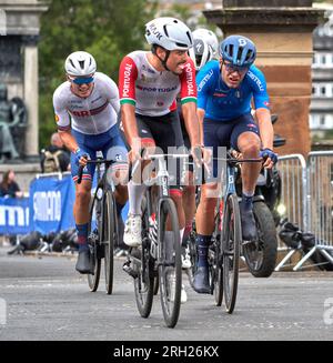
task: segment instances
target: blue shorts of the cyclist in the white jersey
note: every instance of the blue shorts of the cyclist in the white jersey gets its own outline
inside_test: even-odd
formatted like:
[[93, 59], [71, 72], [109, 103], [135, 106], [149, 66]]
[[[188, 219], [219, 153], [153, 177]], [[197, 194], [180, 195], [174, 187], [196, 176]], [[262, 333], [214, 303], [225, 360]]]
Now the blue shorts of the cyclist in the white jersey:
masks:
[[[75, 130], [71, 130], [75, 138], [79, 148], [84, 151], [90, 160], [97, 159], [97, 152], [101, 151], [104, 159], [114, 160], [112, 169], [128, 168], [128, 150], [119, 134], [118, 125], [115, 124], [107, 132], [100, 134], [84, 134]], [[88, 164], [82, 174], [82, 180], [92, 180], [95, 165]], [[78, 180], [79, 163], [75, 155], [71, 153], [71, 173], [73, 181]]]

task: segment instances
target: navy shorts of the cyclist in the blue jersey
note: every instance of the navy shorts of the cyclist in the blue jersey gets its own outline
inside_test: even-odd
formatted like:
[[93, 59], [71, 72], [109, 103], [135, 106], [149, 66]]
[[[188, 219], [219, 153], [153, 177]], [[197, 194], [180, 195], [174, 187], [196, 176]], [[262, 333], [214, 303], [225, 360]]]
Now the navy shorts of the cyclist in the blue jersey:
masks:
[[[214, 121], [204, 119], [204, 147], [213, 149], [213, 158], [218, 158], [219, 147], [233, 148], [238, 151], [238, 139], [243, 132], [254, 132], [260, 137], [258, 125], [251, 113], [230, 121]], [[213, 161], [213, 177], [218, 177], [218, 161]]]

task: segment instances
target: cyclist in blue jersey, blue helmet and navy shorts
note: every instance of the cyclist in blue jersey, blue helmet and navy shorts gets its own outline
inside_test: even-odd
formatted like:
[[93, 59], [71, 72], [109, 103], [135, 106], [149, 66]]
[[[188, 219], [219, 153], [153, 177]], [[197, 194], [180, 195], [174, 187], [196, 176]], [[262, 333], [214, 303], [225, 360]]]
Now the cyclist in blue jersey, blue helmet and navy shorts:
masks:
[[[264, 168], [278, 161], [273, 152], [273, 127], [264, 74], [253, 65], [256, 57], [254, 43], [242, 36], [231, 36], [220, 46], [220, 61], [212, 60], [196, 75], [198, 115], [203, 130], [204, 147], [226, 147], [241, 152], [244, 159], [265, 158]], [[251, 115], [251, 101], [258, 124]], [[218, 178], [218, 161], [213, 160], [213, 177]], [[242, 201], [240, 204], [243, 240], [256, 238], [252, 199], [260, 163], [242, 165]], [[198, 270], [193, 288], [199, 293], [210, 293], [208, 246], [214, 229], [218, 182], [206, 180], [202, 185], [196, 211]]]

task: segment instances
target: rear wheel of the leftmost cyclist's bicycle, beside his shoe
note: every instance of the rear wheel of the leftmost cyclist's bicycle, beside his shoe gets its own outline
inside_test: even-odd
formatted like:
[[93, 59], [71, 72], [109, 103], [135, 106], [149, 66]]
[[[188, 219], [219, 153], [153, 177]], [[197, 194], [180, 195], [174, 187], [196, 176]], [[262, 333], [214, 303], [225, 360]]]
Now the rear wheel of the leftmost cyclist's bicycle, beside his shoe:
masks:
[[101, 202], [94, 196], [90, 203], [88, 223], [88, 243], [90, 248], [90, 259], [93, 266], [93, 274], [88, 274], [88, 285], [91, 292], [95, 292], [99, 288], [101, 274]]

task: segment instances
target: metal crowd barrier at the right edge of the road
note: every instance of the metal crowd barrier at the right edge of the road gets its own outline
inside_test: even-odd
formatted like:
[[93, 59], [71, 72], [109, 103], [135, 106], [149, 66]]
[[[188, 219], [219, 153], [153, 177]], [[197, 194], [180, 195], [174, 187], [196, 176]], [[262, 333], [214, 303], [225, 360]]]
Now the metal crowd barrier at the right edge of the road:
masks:
[[[285, 216], [302, 231], [313, 233], [315, 245], [307, 253], [301, 248], [290, 250], [275, 271], [286, 266], [296, 252], [303, 253], [303, 258], [293, 266], [294, 271], [300, 270], [316, 251], [325, 258], [324, 263], [333, 263], [329, 253], [333, 252], [333, 152], [311, 152], [307, 162], [301, 154], [280, 157], [279, 170]], [[279, 249], [285, 250], [281, 242]]]

